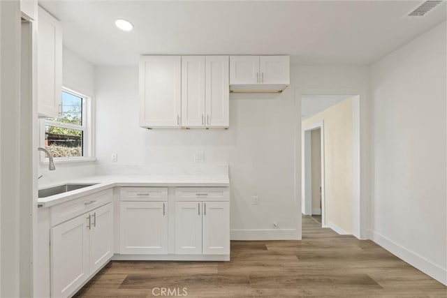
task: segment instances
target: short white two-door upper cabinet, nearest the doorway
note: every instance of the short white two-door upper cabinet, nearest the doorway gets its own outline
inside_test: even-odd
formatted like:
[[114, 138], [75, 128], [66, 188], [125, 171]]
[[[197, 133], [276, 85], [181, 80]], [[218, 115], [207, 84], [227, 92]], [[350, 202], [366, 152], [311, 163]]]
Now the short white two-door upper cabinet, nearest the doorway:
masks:
[[281, 92], [290, 84], [288, 56], [231, 56], [230, 91]]

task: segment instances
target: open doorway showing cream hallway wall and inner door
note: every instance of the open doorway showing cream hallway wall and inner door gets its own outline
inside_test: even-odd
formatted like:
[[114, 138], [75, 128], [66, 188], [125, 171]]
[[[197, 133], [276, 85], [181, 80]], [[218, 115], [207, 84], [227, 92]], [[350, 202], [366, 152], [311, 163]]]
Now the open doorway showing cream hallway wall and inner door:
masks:
[[338, 234], [360, 226], [359, 99], [302, 96], [302, 214]]

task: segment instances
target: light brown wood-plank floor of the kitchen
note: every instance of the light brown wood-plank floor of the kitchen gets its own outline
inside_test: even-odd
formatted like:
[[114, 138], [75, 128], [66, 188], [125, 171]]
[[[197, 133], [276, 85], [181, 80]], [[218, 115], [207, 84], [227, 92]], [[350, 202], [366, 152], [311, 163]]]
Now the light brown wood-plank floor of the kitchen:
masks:
[[77, 297], [167, 297], [157, 288], [186, 288], [186, 297], [447, 297], [446, 286], [381, 246], [316, 219], [302, 217], [301, 241], [231, 241], [230, 262], [113, 261]]

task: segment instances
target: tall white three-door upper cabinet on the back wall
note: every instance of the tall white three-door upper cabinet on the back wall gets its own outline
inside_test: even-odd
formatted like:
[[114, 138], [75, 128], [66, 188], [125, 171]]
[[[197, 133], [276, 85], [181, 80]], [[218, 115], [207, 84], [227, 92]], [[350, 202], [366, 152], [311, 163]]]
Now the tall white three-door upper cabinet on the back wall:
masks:
[[228, 56], [142, 56], [140, 126], [226, 128]]

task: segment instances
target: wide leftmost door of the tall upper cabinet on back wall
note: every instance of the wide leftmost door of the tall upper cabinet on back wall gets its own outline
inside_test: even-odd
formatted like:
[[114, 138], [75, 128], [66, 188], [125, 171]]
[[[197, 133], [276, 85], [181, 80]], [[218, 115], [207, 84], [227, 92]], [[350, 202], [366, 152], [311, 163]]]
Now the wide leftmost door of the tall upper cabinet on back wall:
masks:
[[140, 126], [180, 126], [180, 75], [179, 56], [140, 58]]

